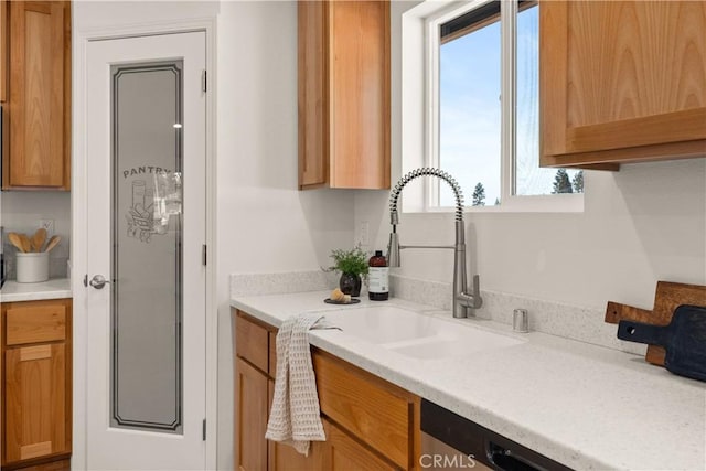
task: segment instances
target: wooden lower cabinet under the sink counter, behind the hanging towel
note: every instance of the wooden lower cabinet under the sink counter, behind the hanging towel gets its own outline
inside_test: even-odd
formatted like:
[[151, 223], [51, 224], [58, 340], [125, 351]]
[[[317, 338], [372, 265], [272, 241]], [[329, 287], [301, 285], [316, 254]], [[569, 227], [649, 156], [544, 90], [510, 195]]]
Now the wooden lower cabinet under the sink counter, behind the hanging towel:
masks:
[[317, 349], [312, 360], [327, 440], [312, 441], [306, 457], [288, 445], [266, 440], [275, 389], [275, 329], [240, 311], [234, 311], [233, 320], [237, 470], [418, 468], [419, 398]]

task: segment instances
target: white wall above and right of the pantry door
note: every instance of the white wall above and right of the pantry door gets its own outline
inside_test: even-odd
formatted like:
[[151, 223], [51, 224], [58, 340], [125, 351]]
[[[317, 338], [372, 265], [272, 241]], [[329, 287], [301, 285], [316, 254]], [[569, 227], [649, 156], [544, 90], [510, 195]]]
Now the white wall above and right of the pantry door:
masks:
[[[297, 190], [297, 7], [292, 1], [88, 2], [75, 29], [217, 17], [217, 468], [233, 469], [233, 272], [315, 270], [353, 242], [351, 191]], [[215, 72], [215, 74], [213, 73]]]

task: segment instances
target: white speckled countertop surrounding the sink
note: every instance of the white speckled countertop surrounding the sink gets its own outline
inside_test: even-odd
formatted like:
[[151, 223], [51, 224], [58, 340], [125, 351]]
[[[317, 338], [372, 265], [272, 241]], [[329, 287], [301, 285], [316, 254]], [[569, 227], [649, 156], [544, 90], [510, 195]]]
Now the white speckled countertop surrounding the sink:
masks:
[[[329, 291], [242, 296], [231, 306], [279, 327], [331, 306]], [[525, 447], [577, 470], [706, 469], [706, 384], [675, 376], [642, 356], [501, 323], [454, 320], [400, 299], [391, 306], [526, 340], [463, 357], [411, 360], [338, 330], [310, 343]]]

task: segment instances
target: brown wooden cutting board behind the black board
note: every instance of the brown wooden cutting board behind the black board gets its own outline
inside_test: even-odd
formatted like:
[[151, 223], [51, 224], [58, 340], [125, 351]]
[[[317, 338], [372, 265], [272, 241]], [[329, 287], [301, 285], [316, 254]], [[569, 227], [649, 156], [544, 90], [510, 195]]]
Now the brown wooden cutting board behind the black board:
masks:
[[[651, 311], [608, 301], [605, 320], [611, 324], [627, 320], [653, 325], [667, 325], [672, 321], [674, 310], [681, 304], [706, 307], [706, 286], [657, 281], [654, 308]], [[650, 363], [664, 366], [665, 355], [666, 352], [662, 346], [649, 345], [644, 357]]]

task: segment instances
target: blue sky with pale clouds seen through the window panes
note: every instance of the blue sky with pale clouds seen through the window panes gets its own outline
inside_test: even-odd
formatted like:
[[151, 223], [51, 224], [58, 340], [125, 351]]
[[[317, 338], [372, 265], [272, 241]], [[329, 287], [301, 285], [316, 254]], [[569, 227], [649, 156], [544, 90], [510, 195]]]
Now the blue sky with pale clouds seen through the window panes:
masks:
[[[461, 183], [467, 205], [478, 182], [486, 205], [500, 197], [500, 43], [496, 22], [440, 46], [440, 167]], [[537, 167], [538, 90], [538, 9], [531, 8], [517, 19], [517, 194], [550, 193], [556, 174]], [[453, 202], [446, 188], [440, 202]]]

